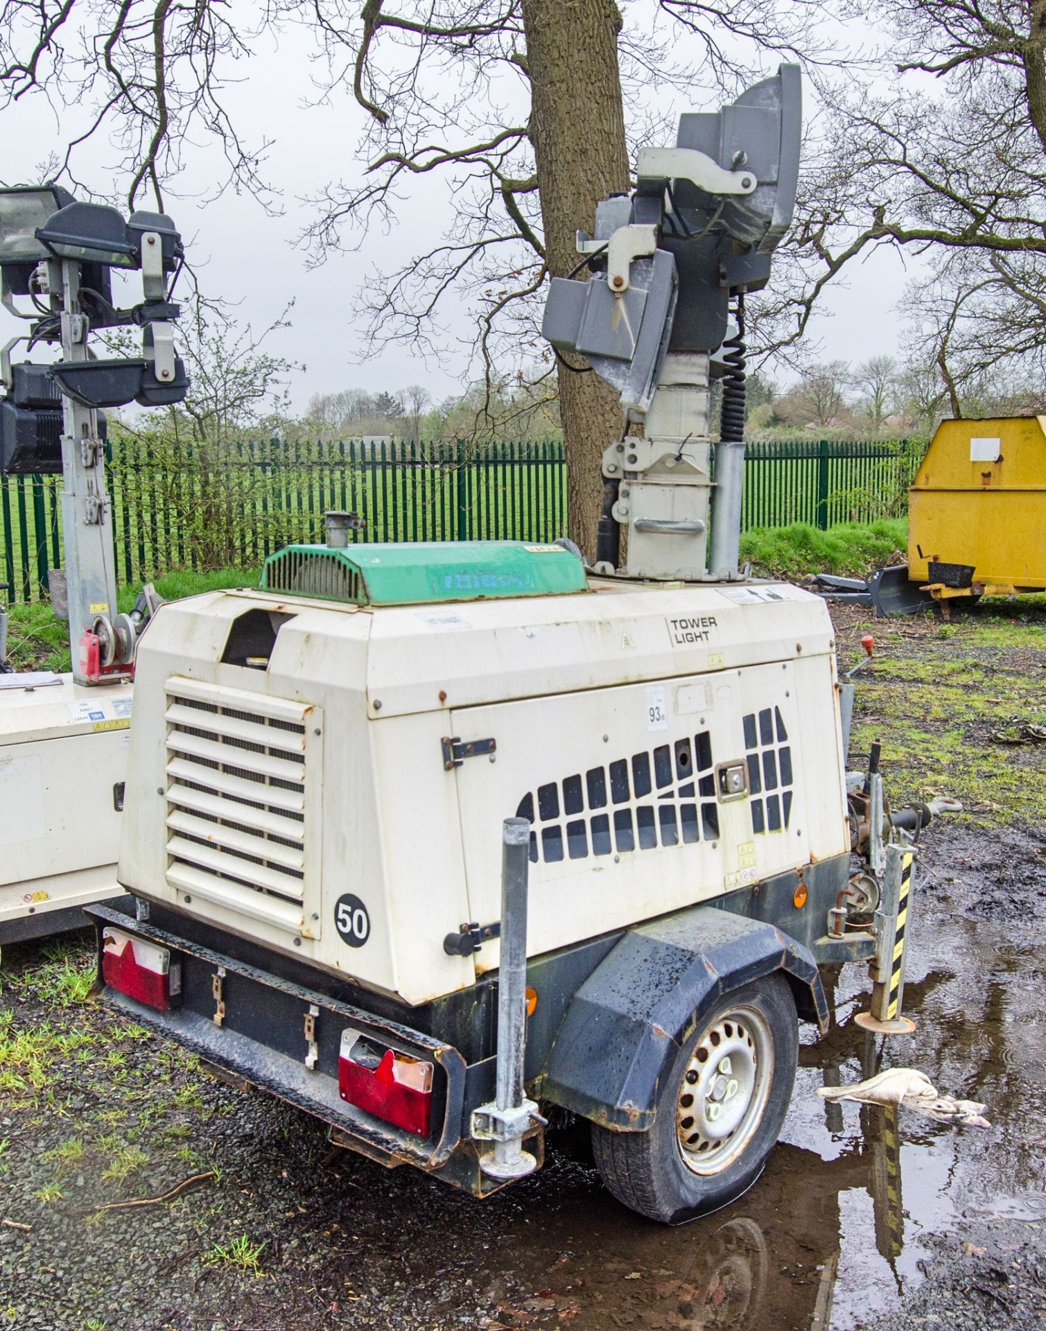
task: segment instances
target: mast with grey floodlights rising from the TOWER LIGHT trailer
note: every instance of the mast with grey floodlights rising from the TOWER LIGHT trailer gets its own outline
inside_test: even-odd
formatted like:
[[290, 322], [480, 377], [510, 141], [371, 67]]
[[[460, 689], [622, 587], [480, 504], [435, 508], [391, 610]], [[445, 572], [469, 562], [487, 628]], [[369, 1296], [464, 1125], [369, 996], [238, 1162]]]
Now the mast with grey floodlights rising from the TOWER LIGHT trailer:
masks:
[[617, 571], [625, 527], [627, 576], [740, 576], [744, 293], [767, 285], [792, 220], [800, 137], [797, 65], [684, 114], [675, 148], [640, 150], [635, 193], [603, 200], [594, 236], [578, 233], [591, 277], [552, 280], [546, 338], [586, 357], [627, 419], [603, 454], [599, 572]]

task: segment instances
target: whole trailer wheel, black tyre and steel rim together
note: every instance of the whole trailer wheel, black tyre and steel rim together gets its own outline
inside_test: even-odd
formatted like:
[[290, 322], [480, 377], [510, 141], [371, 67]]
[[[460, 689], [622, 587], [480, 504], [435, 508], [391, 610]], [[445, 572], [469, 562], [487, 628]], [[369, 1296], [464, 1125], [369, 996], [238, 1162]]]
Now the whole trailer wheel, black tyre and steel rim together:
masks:
[[648, 1131], [592, 1125], [607, 1189], [667, 1223], [740, 1197], [777, 1141], [797, 1063], [796, 1002], [784, 976], [725, 994], [680, 1049]]

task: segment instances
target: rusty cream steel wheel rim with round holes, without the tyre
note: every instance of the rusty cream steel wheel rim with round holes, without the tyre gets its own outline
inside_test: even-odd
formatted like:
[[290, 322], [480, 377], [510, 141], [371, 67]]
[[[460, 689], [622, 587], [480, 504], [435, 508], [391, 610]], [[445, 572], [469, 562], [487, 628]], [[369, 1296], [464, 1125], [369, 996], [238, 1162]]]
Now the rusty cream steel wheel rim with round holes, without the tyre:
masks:
[[773, 1040], [757, 1008], [716, 1017], [691, 1051], [676, 1097], [676, 1142], [687, 1169], [721, 1174], [752, 1141], [769, 1099]]

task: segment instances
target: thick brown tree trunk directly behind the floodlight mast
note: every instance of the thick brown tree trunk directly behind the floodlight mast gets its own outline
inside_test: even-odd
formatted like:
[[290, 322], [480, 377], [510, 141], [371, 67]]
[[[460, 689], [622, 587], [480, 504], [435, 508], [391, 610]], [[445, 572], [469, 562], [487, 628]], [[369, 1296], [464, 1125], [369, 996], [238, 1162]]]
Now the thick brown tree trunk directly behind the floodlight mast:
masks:
[[[554, 277], [578, 262], [575, 232], [592, 230], [596, 202], [628, 189], [617, 33], [612, 0], [522, 0], [544, 246]], [[595, 374], [559, 367], [570, 535], [595, 556], [603, 502], [600, 457], [621, 433], [616, 394]]]

